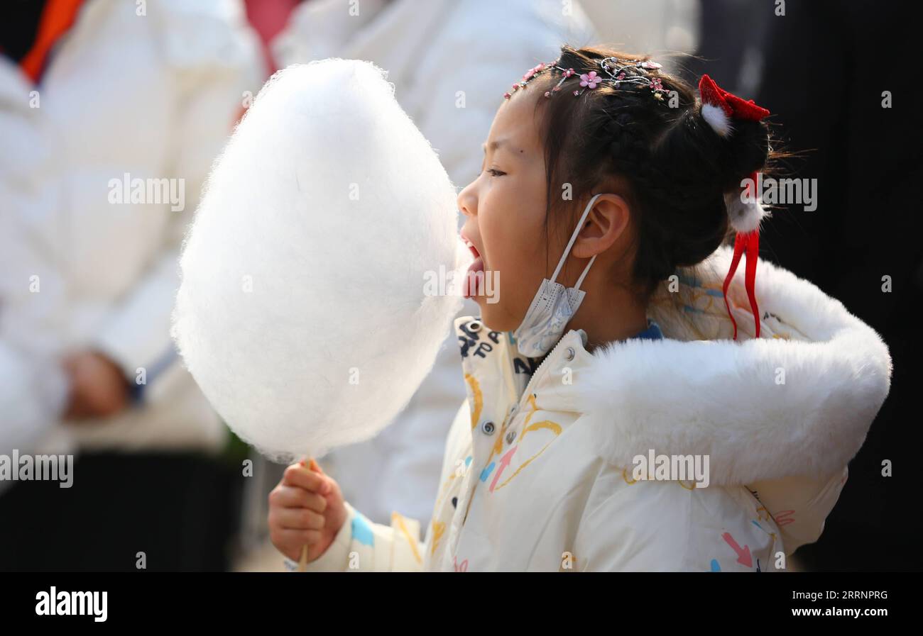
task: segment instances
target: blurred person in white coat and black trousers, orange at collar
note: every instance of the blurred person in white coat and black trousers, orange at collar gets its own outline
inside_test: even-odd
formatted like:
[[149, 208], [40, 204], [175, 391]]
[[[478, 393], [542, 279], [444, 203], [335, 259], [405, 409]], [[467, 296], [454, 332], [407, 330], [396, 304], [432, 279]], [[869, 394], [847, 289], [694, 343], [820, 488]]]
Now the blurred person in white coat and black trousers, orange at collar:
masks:
[[17, 122], [31, 164], [13, 170], [12, 147], [0, 151], [0, 183], [21, 194], [0, 201], [18, 228], [0, 252], [21, 247], [0, 338], [66, 382], [60, 418], [0, 441], [78, 453], [71, 488], [3, 491], [0, 569], [223, 569], [227, 434], [174, 352], [170, 312], [200, 189], [258, 88], [242, 6], [10, 2], [0, 53], [0, 123]]

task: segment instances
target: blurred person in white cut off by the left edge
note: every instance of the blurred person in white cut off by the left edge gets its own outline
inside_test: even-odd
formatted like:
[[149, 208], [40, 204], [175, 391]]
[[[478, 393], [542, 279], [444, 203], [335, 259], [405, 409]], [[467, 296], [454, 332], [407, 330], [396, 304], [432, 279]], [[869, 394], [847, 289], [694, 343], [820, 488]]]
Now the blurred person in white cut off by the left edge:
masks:
[[[0, 66], [6, 64], [0, 59]], [[2, 71], [0, 71], [2, 75]], [[66, 406], [66, 373], [57, 363], [62, 315], [60, 273], [42, 263], [30, 223], [51, 208], [44, 145], [38, 137], [32, 87], [0, 82], [0, 455], [27, 452], [54, 426]], [[30, 264], [31, 266], [25, 266]], [[47, 293], [33, 295], [32, 289]], [[10, 317], [18, 319], [11, 321]], [[13, 485], [0, 475], [0, 493]]]

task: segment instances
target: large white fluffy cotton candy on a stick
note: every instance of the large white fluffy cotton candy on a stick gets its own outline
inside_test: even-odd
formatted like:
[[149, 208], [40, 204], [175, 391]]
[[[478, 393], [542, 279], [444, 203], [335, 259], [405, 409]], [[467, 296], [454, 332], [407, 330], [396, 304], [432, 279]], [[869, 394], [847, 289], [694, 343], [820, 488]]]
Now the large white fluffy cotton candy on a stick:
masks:
[[455, 189], [383, 71], [291, 66], [212, 168], [174, 337], [242, 439], [280, 460], [319, 456], [407, 404], [462, 305], [425, 283], [469, 258]]

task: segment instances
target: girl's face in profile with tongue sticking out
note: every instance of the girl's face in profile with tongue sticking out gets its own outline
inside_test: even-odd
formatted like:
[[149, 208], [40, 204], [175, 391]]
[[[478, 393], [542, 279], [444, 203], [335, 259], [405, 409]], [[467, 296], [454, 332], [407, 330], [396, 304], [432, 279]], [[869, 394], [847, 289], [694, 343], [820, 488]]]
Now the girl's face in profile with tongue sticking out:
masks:
[[[481, 173], [458, 197], [467, 217], [462, 239], [476, 259], [469, 272], [484, 268], [485, 284], [475, 286], [476, 278], [469, 277], [469, 294], [484, 323], [497, 331], [521, 324], [542, 279], [550, 276], [545, 271], [545, 158], [533, 116], [533, 96], [539, 94], [521, 90], [503, 101], [487, 135]], [[558, 255], [561, 250], [563, 243]]]

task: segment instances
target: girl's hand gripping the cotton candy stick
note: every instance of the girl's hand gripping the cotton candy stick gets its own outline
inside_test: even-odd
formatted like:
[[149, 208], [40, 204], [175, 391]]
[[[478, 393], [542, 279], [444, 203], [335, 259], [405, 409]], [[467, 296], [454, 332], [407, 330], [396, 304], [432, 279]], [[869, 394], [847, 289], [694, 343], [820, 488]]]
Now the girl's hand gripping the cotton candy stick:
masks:
[[346, 521], [340, 486], [313, 459], [290, 465], [270, 492], [270, 538], [282, 554], [299, 560], [307, 546], [307, 560], [322, 555]]

